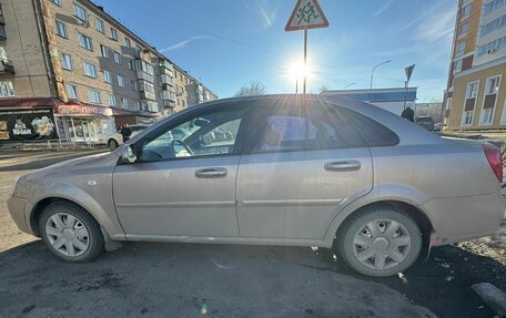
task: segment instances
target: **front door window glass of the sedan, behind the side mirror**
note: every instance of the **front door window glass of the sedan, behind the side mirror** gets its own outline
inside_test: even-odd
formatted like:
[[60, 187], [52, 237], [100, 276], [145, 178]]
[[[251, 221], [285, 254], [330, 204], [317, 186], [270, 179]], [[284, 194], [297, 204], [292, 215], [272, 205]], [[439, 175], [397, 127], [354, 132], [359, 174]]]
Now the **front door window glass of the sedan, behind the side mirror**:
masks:
[[141, 160], [151, 162], [231, 154], [234, 151], [243, 113], [241, 109], [223, 107], [170, 125], [143, 143]]

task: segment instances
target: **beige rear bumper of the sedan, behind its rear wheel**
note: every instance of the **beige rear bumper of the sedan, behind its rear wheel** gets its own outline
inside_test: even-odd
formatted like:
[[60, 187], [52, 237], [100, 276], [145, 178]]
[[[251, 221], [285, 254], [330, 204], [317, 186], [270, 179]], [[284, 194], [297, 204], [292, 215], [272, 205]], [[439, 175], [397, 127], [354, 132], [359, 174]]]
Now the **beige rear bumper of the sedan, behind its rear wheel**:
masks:
[[432, 199], [422, 208], [434, 226], [431, 245], [447, 245], [497, 233], [505, 217], [500, 193]]

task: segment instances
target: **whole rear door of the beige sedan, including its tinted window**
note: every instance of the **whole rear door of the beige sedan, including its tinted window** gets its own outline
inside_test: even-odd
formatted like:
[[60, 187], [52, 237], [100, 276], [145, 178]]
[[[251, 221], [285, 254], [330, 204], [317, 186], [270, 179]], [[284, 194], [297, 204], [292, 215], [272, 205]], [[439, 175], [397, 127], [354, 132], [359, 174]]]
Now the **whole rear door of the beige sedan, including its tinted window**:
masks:
[[242, 237], [322, 239], [340, 208], [372, 188], [371, 153], [333, 105], [265, 105], [247, 131], [237, 175]]

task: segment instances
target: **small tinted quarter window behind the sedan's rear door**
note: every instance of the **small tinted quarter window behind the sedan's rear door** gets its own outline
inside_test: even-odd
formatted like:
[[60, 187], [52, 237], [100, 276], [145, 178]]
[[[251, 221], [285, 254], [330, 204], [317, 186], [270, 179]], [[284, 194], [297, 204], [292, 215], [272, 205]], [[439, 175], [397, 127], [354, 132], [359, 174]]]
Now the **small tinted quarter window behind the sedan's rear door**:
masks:
[[343, 109], [343, 114], [356, 125], [367, 146], [378, 147], [398, 144], [398, 136], [378, 122], [351, 110]]

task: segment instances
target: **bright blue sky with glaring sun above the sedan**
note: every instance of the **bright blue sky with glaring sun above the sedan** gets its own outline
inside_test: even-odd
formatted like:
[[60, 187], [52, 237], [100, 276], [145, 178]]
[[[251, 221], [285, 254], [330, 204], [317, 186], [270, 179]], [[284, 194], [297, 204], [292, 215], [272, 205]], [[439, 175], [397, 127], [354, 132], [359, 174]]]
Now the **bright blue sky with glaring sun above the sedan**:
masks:
[[[284, 27], [296, 0], [94, 0], [220, 98], [251, 81], [267, 93], [295, 92], [303, 31]], [[307, 91], [409, 86], [419, 102], [442, 101], [456, 0], [320, 0], [330, 27], [308, 31]]]

